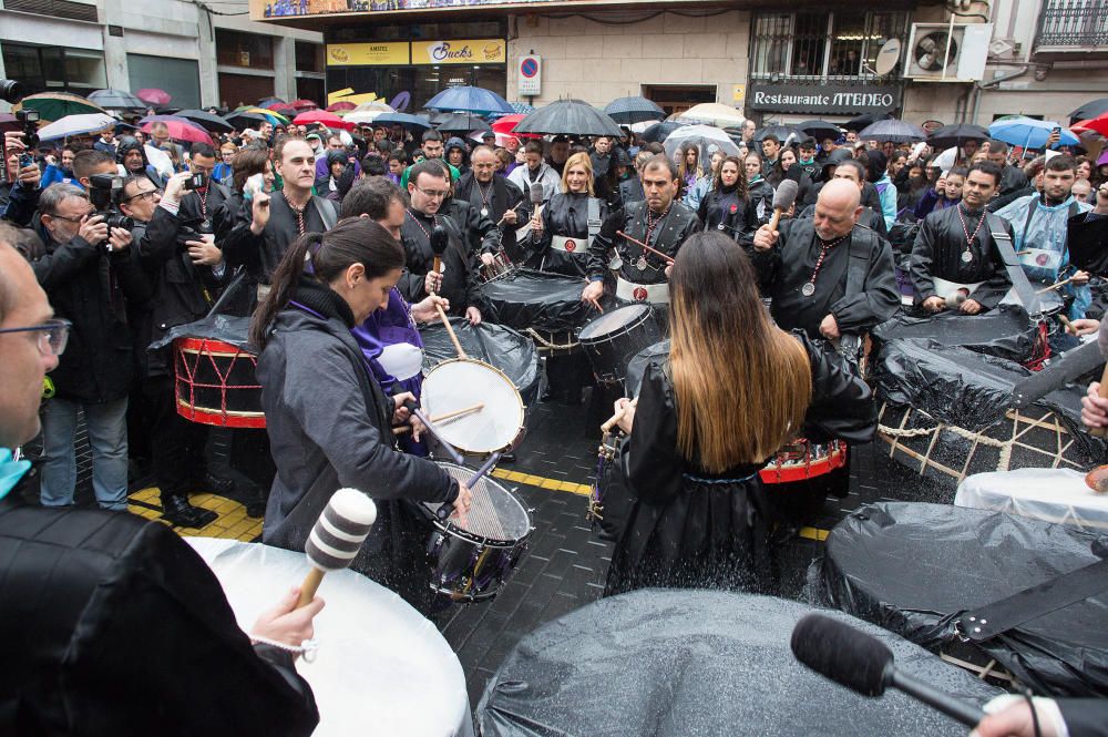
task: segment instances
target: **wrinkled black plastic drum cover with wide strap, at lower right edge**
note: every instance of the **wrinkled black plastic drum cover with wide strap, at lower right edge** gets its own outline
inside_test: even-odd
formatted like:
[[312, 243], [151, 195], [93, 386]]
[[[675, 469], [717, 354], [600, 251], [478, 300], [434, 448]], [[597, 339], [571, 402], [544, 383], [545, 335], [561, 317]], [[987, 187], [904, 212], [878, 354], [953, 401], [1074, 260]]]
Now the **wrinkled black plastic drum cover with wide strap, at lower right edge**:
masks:
[[[809, 580], [849, 614], [937, 649], [960, 613], [1096, 563], [1108, 538], [946, 504], [864, 506], [831, 531]], [[978, 645], [1036, 694], [1108, 694], [1108, 592]]]

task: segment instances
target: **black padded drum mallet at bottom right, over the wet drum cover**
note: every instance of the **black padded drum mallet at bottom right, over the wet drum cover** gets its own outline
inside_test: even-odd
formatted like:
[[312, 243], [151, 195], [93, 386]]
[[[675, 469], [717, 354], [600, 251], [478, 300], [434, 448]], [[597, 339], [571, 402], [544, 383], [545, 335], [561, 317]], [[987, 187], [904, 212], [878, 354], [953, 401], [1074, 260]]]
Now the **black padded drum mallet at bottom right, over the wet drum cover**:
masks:
[[862, 696], [881, 696], [892, 686], [967, 727], [985, 717], [976, 706], [903, 673], [884, 643], [838, 620], [804, 615], [792, 629], [790, 645], [798, 661]]

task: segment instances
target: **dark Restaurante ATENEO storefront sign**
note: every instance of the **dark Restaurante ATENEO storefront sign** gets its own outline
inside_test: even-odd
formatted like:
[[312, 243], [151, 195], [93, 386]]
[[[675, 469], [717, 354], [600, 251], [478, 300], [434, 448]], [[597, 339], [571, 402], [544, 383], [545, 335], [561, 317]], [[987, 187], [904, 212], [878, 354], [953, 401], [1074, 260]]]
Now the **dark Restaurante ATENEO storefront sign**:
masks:
[[777, 113], [856, 115], [888, 113], [900, 106], [895, 84], [751, 84], [747, 106]]

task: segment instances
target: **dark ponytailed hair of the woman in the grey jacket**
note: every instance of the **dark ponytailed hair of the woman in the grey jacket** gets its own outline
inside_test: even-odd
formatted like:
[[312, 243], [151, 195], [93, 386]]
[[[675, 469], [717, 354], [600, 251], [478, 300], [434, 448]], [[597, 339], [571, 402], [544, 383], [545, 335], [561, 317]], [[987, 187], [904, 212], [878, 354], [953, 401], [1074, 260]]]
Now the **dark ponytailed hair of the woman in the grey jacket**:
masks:
[[250, 342], [258, 350], [265, 348], [269, 325], [288, 305], [301, 278], [328, 286], [353, 264], [366, 267], [366, 278], [376, 279], [403, 268], [404, 250], [392, 234], [368, 217], [348, 217], [327, 233], [297, 238], [274, 269], [269, 294], [254, 311]]

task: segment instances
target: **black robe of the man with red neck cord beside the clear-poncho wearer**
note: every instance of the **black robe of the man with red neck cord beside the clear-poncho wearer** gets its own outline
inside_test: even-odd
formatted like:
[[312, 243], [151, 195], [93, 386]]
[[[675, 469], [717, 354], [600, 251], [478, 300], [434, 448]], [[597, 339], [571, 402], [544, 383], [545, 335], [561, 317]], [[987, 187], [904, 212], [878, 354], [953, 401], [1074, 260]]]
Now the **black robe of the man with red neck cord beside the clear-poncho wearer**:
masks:
[[[966, 234], [958, 218], [961, 208], [962, 205], [955, 205], [936, 209], [923, 219], [915, 236], [915, 244], [912, 246], [912, 284], [920, 295], [920, 301], [923, 303], [929, 297], [947, 296], [935, 291], [933, 276], [957, 284], [984, 282], [970, 294], [970, 298], [989, 310], [1004, 299], [1004, 295], [1012, 288], [1012, 280], [1008, 278], [1007, 269], [1004, 268], [1001, 252], [993, 243], [988, 221], [982, 224], [973, 243], [970, 244], [973, 260], [970, 263], [962, 260], [962, 254], [966, 250]], [[966, 224], [973, 228], [982, 214], [966, 216], [962, 213], [962, 215]], [[1004, 218], [996, 217], [996, 219], [1004, 225], [1004, 229], [1010, 236], [1012, 225]]]

